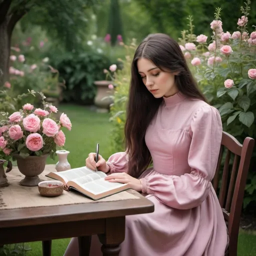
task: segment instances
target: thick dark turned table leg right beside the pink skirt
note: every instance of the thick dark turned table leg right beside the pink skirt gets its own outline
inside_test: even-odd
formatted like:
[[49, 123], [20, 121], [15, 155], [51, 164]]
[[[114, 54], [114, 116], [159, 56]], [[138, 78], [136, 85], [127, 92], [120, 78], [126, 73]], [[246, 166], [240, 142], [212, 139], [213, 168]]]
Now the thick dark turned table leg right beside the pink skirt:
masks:
[[107, 218], [105, 223], [105, 233], [98, 235], [102, 243], [101, 251], [103, 256], [118, 256], [120, 244], [124, 240], [125, 216]]

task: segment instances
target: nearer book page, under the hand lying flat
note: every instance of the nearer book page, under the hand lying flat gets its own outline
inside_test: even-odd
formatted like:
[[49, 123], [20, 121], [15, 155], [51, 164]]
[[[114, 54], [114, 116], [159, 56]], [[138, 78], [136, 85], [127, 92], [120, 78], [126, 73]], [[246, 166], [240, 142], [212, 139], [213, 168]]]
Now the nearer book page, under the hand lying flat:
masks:
[[[91, 176], [91, 174], [88, 176]], [[87, 176], [86, 176], [86, 178], [87, 178]], [[77, 180], [75, 180], [75, 182], [79, 186], [81, 186], [82, 188], [84, 188], [85, 190], [87, 190], [93, 194], [100, 194], [100, 193], [103, 193], [103, 192], [126, 185], [126, 184], [122, 184], [119, 182], [110, 182], [108, 180], [104, 180], [104, 177], [102, 177], [100, 179], [95, 178], [94, 181], [83, 182], [83, 183], [79, 182], [80, 180], [81, 179], [79, 179], [79, 180], [77, 179]]]

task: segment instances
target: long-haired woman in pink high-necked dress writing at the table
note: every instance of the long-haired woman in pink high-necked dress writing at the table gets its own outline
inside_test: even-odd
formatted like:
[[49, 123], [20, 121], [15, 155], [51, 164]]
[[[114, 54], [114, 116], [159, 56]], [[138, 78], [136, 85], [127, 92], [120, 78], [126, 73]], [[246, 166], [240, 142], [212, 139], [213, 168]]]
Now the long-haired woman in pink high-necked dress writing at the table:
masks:
[[[228, 235], [211, 185], [222, 135], [218, 111], [198, 90], [176, 41], [150, 34], [135, 51], [125, 124], [126, 151], [86, 166], [129, 183], [155, 207], [126, 216], [121, 256], [223, 256]], [[153, 167], [148, 165], [153, 163]], [[91, 256], [101, 255], [93, 236]], [[65, 256], [78, 255], [72, 238]]]

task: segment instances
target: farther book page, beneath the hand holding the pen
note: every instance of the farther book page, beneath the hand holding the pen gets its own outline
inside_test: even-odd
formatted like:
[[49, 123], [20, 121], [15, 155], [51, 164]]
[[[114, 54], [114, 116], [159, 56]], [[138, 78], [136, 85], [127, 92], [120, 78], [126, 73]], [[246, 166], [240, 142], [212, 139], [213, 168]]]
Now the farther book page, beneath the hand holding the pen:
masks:
[[106, 176], [106, 174], [102, 171], [94, 171], [92, 169], [87, 168], [86, 166], [73, 168], [70, 170], [64, 170], [56, 172], [57, 175], [62, 177], [65, 182], [67, 181], [75, 181], [81, 179], [81, 182], [85, 182], [84, 179], [86, 179], [86, 182], [99, 179], [101, 177]]

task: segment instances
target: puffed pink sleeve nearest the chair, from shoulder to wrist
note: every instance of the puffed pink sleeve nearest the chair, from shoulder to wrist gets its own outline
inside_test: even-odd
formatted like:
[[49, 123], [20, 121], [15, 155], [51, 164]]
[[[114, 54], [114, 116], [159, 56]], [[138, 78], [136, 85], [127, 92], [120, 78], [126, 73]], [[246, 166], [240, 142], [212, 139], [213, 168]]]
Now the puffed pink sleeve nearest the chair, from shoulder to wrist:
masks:
[[164, 204], [190, 209], [201, 204], [210, 189], [222, 137], [222, 123], [216, 108], [204, 105], [190, 122], [189, 173], [169, 177], [161, 174], [141, 178], [142, 192], [153, 194]]

